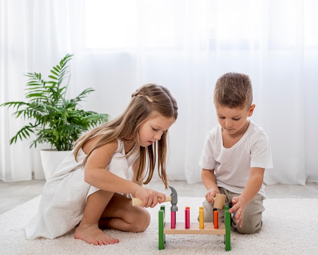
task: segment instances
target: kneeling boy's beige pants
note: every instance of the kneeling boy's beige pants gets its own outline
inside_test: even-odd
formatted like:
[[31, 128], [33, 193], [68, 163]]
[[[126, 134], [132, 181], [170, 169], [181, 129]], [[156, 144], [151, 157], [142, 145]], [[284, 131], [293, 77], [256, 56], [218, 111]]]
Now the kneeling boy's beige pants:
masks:
[[[233, 196], [238, 196], [239, 194], [233, 193], [231, 191], [226, 190], [225, 188], [219, 188], [221, 194], [226, 195], [225, 205], [231, 208], [232, 198]], [[252, 234], [259, 231], [262, 228], [262, 213], [265, 208], [263, 206], [264, 196], [257, 194], [251, 202], [246, 206], [244, 214], [243, 214], [243, 223], [242, 227], [239, 228], [236, 223], [235, 217], [233, 217], [232, 226], [237, 229], [239, 233], [242, 234]], [[207, 202], [206, 200], [203, 202], [204, 209], [204, 221], [205, 222], [213, 222], [213, 204]], [[234, 212], [235, 215], [235, 212]], [[219, 222], [224, 222], [224, 210], [218, 210], [218, 220]]]

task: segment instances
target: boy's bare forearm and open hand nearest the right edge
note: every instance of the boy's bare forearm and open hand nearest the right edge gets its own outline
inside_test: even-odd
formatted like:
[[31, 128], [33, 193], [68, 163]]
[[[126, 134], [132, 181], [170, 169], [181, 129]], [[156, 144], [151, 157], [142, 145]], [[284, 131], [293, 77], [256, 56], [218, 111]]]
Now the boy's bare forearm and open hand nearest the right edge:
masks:
[[243, 213], [248, 203], [257, 195], [263, 185], [264, 168], [251, 167], [249, 172], [249, 178], [246, 186], [239, 196], [234, 196], [232, 203], [234, 206], [229, 210], [230, 213], [236, 211], [235, 218], [239, 226], [242, 226]]

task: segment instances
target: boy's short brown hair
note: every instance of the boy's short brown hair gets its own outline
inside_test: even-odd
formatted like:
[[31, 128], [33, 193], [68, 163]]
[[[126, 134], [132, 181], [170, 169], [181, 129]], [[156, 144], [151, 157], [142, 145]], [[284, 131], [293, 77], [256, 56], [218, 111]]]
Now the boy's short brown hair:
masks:
[[252, 83], [248, 75], [229, 72], [217, 79], [214, 87], [215, 105], [244, 109], [251, 106], [252, 100]]

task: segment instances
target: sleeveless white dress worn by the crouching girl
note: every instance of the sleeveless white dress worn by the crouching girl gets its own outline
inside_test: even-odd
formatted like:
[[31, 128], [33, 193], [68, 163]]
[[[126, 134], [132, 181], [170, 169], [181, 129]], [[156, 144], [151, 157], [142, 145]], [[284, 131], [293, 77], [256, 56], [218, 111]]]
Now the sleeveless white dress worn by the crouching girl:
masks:
[[[129, 167], [138, 156], [139, 153], [135, 153], [125, 157], [123, 141], [118, 139], [118, 148], [105, 171], [129, 180]], [[80, 149], [76, 162], [72, 151], [47, 180], [38, 214], [25, 227], [27, 239], [56, 238], [71, 231], [81, 221], [87, 197], [99, 190], [84, 182], [82, 162], [85, 157]]]

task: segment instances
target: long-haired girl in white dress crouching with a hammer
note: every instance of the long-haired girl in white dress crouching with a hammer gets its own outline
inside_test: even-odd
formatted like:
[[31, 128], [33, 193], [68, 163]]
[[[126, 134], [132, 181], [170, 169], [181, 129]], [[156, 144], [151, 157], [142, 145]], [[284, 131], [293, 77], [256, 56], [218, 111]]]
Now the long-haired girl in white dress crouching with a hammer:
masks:
[[[150, 223], [145, 207], [164, 202], [165, 194], [142, 184], [150, 182], [157, 162], [158, 174], [168, 188], [167, 132], [177, 110], [166, 88], [146, 84], [133, 93], [118, 118], [81, 136], [46, 182], [38, 215], [26, 226], [26, 237], [53, 239], [78, 225], [75, 238], [103, 245], [119, 240], [100, 228], [145, 231]], [[131, 196], [142, 199], [141, 207], [132, 206]]]

